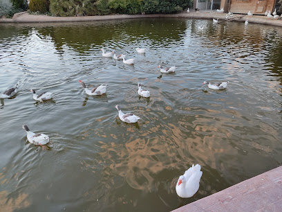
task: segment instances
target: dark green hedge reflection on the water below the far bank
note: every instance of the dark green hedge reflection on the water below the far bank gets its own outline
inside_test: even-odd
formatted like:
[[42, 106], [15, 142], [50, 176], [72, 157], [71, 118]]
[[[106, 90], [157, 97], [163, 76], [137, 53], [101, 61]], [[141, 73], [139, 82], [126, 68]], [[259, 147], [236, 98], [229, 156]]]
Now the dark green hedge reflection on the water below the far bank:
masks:
[[53, 27], [40, 27], [36, 30], [41, 35], [50, 35], [57, 48], [66, 44], [75, 51], [85, 53], [85, 51], [92, 49], [93, 45], [103, 45], [105, 42], [113, 41], [124, 46], [126, 43], [135, 42], [136, 37], [169, 45], [170, 42], [181, 39], [181, 34], [184, 34], [186, 30], [186, 22], [179, 19], [166, 19], [166, 21], [162, 21], [162, 19], [131, 19], [100, 21], [94, 24], [88, 22], [68, 24], [68, 26], [66, 23], [63, 26], [55, 24]]

